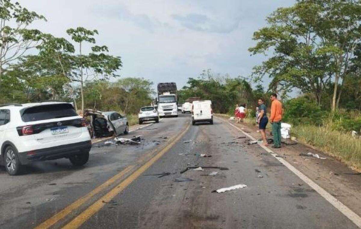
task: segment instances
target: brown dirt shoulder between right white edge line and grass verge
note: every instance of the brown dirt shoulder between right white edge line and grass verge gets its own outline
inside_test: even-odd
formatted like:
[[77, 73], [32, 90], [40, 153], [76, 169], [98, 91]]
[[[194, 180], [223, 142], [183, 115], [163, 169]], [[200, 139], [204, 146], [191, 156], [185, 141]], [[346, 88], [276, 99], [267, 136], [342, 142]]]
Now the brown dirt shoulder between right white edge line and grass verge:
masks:
[[[258, 129], [256, 126], [237, 124], [225, 117], [217, 116], [217, 118], [224, 122], [230, 122], [256, 139], [261, 138], [260, 133], [257, 133]], [[337, 159], [300, 143], [295, 145], [282, 144], [282, 148], [272, 149], [272, 151], [325, 189], [357, 215], [361, 215], [361, 206], [359, 204], [361, 200], [361, 193], [359, 191], [361, 190], [360, 173], [348, 168], [347, 165]], [[326, 159], [319, 159], [314, 156], [300, 156], [300, 154], [308, 154], [309, 152], [318, 154], [319, 157], [325, 157]]]

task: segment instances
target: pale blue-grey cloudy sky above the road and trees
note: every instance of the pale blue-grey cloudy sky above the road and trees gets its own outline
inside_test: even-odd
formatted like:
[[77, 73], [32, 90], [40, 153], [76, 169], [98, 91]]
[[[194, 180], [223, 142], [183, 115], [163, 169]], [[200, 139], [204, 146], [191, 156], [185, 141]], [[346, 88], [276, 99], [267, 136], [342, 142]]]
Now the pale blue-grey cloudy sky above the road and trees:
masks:
[[[248, 76], [264, 60], [250, 56], [265, 17], [294, 0], [19, 0], [43, 14], [40, 30], [70, 39], [70, 27], [97, 29], [97, 44], [122, 57], [122, 77], [186, 85], [203, 69]], [[268, 83], [265, 79], [265, 85]]]

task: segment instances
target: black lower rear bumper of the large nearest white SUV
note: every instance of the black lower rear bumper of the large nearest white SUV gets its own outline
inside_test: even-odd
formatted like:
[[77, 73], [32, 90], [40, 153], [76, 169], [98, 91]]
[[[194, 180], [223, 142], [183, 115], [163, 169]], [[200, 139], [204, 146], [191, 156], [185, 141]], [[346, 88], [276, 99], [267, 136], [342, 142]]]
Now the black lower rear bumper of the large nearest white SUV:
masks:
[[39, 150], [20, 152], [18, 155], [21, 164], [28, 164], [31, 161], [55, 160], [64, 157], [68, 158], [75, 154], [89, 152], [90, 149], [91, 141], [84, 141]]

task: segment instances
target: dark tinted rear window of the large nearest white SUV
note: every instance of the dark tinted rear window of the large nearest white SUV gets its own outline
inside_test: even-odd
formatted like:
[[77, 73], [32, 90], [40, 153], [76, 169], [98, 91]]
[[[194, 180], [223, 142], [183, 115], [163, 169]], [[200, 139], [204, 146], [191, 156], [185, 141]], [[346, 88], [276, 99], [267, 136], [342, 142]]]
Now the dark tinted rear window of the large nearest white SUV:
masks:
[[77, 112], [75, 112], [75, 109], [73, 108], [73, 105], [69, 103], [61, 103], [26, 108], [21, 115], [21, 119], [24, 122], [33, 122], [73, 116], [78, 116]]

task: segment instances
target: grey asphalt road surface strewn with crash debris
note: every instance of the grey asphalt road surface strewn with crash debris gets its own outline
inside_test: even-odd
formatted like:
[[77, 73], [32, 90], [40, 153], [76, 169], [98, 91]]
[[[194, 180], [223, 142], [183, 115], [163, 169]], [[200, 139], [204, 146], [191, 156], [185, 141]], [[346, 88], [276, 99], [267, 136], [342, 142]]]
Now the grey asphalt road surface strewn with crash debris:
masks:
[[[72, 167], [65, 159], [32, 164], [16, 177], [1, 168], [0, 228], [35, 227], [129, 166], [134, 169], [129, 174], [64, 217], [55, 217], [52, 228], [67, 225], [79, 214], [78, 218], [85, 219], [77, 224], [80, 228], [357, 228], [264, 149], [247, 145], [248, 139], [239, 138], [244, 136], [236, 129], [215, 119], [214, 125], [191, 126], [181, 137], [189, 123], [190, 115], [181, 114], [136, 130], [130, 135], [140, 134], [144, 139], [138, 146], [97, 143], [82, 168]], [[174, 143], [176, 137], [181, 138]], [[134, 176], [167, 146], [172, 147], [134, 181], [126, 182], [128, 175]], [[198, 166], [228, 170], [181, 174], [187, 167]], [[217, 175], [208, 176], [216, 171]], [[169, 175], [153, 175], [162, 173]], [[177, 178], [192, 181], [178, 182]], [[112, 190], [121, 182], [126, 183], [124, 189], [114, 194]], [[247, 187], [212, 193], [238, 184]], [[109, 193], [114, 197], [104, 201]], [[92, 212], [97, 206], [99, 211]]]

